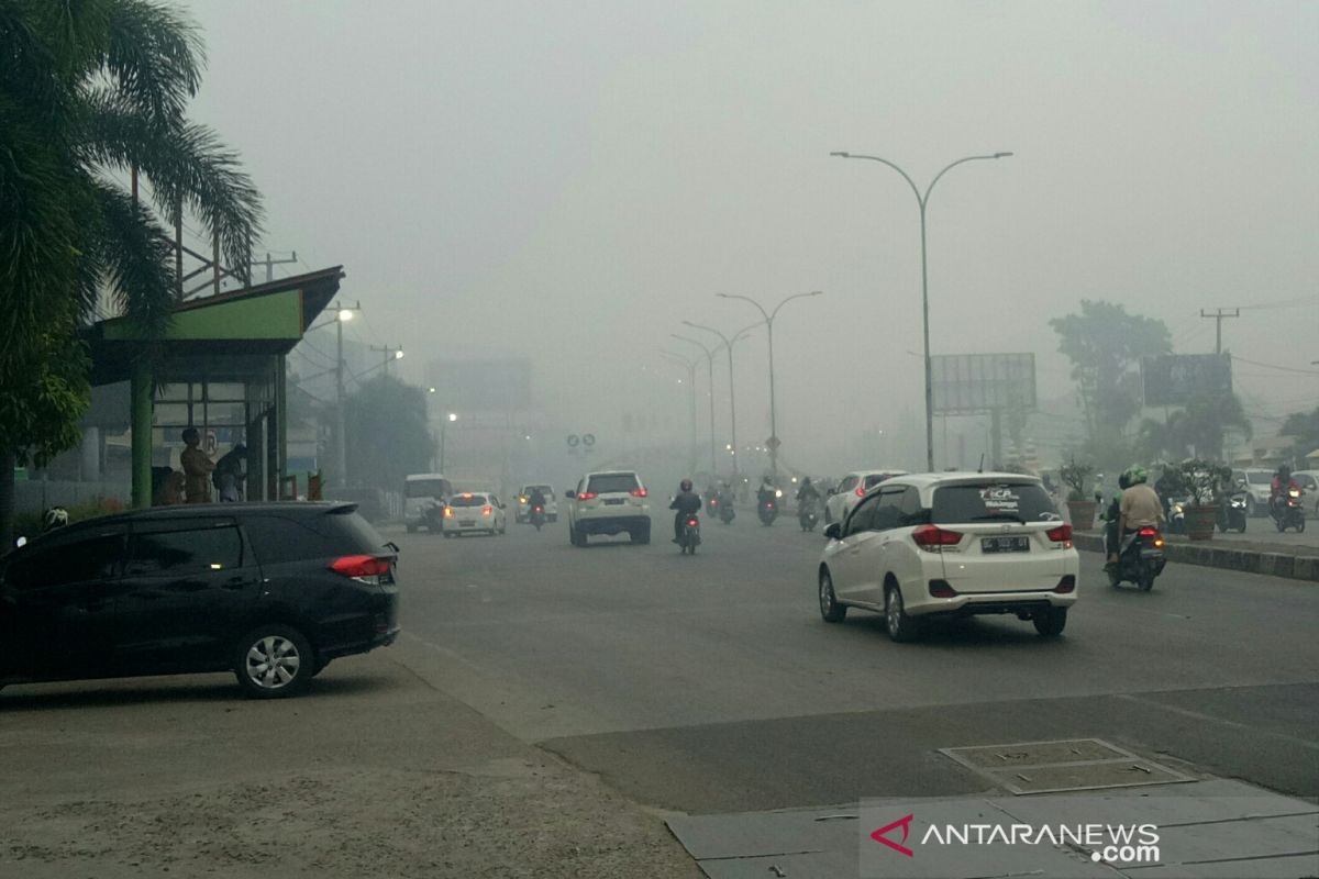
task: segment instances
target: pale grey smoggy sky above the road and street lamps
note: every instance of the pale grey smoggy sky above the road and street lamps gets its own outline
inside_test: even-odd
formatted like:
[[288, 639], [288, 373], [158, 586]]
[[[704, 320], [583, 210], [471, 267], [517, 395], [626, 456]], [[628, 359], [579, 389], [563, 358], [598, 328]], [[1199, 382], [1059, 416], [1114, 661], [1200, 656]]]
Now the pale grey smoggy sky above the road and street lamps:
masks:
[[[683, 418], [679, 373], [634, 366], [666, 369], [682, 319], [733, 329], [756, 312], [718, 291], [819, 289], [776, 327], [785, 455], [902, 430], [915, 199], [831, 150], [922, 183], [1016, 153], [934, 192], [935, 353], [1034, 351], [1050, 397], [1070, 381], [1047, 322], [1083, 297], [1162, 318], [1183, 352], [1212, 351], [1200, 308], [1286, 302], [1225, 343], [1319, 370], [1316, 3], [187, 5], [194, 115], [262, 188], [265, 246], [344, 264], [352, 332], [402, 344], [418, 381], [437, 345], [526, 352], [567, 418], [613, 426], [649, 394]], [[739, 356], [747, 439], [764, 337]], [[1319, 402], [1319, 374], [1236, 368], [1256, 415]]]

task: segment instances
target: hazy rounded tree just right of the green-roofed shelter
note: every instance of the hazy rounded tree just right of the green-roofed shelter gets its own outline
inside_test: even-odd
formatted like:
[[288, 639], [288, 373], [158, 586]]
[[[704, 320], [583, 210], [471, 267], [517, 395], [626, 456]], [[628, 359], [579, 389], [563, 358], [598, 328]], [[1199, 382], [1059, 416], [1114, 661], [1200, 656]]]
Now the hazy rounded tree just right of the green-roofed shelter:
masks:
[[430, 469], [434, 443], [426, 394], [390, 376], [364, 382], [344, 401], [348, 473], [357, 485], [393, 489]]

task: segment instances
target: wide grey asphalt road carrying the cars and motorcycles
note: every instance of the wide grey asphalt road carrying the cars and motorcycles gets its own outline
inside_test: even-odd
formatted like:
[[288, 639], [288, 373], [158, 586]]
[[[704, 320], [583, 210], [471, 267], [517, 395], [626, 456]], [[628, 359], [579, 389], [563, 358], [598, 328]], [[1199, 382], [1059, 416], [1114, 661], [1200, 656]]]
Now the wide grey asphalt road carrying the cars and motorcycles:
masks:
[[976, 793], [936, 749], [1072, 737], [1319, 793], [1315, 584], [1170, 565], [1115, 590], [1082, 553], [1060, 639], [987, 617], [894, 644], [873, 614], [820, 621], [820, 536], [793, 521], [706, 523], [696, 557], [666, 526], [649, 547], [574, 548], [563, 522], [392, 535], [408, 638], [446, 692], [660, 808]]

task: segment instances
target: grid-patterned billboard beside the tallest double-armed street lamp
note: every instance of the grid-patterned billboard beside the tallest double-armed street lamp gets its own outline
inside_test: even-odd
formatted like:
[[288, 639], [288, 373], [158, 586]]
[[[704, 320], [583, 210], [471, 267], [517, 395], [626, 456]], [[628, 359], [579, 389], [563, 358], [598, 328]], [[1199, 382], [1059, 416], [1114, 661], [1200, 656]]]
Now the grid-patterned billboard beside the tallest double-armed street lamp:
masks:
[[1035, 409], [1034, 354], [934, 354], [930, 383], [935, 415]]

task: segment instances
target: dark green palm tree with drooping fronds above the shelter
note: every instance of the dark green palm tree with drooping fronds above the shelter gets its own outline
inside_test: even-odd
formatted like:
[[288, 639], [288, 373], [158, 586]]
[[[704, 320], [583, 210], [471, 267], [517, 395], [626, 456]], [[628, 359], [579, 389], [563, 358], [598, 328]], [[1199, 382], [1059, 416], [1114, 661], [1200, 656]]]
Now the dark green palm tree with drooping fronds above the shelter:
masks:
[[[187, 121], [203, 49], [154, 0], [0, 0], [0, 539], [13, 464], [78, 441], [78, 329], [104, 295], [148, 333], [169, 323], [187, 211], [248, 277], [260, 196], [237, 156]], [[146, 199], [117, 182], [141, 179]], [[136, 188], [136, 187], [135, 187]], [[149, 352], [146, 352], [149, 356]], [[5, 544], [7, 544], [5, 543]]]

